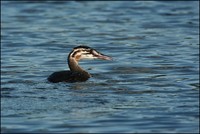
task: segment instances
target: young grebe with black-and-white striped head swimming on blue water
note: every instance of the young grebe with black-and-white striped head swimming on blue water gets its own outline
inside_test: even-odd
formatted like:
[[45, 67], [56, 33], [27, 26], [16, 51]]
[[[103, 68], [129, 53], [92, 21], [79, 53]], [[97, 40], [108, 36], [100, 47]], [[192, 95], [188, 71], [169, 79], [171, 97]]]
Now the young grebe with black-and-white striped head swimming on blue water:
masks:
[[91, 75], [83, 70], [78, 61], [81, 59], [102, 59], [112, 60], [111, 57], [98, 52], [97, 50], [88, 46], [75, 47], [68, 55], [68, 66], [70, 71], [58, 71], [52, 73], [48, 77], [49, 82], [83, 82], [88, 80]]

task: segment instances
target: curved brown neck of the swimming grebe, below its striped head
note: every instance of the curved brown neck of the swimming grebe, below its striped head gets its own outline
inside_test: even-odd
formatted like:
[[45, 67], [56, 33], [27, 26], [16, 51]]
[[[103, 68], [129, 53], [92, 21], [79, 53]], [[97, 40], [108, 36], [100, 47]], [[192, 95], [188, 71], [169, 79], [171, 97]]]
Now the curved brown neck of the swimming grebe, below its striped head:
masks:
[[78, 65], [78, 61], [76, 61], [75, 59], [68, 58], [68, 65], [71, 71], [80, 72], [84, 75], [87, 75], [88, 77], [91, 77], [91, 75], [87, 71], [85, 71]]

